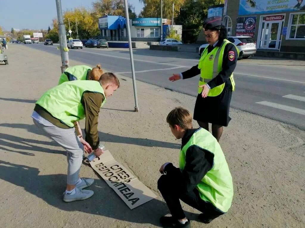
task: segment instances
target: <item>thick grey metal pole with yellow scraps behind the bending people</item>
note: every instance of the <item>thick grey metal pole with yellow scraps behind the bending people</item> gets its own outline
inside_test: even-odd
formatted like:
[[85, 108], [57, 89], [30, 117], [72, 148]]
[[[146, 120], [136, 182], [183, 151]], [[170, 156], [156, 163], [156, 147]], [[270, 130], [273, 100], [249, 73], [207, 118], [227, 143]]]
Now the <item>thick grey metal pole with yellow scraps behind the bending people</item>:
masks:
[[58, 36], [59, 36], [59, 47], [60, 47], [60, 55], [61, 55], [61, 62], [62, 66], [61, 72], [63, 73], [67, 67], [69, 67], [69, 55], [68, 52], [64, 50], [68, 50], [67, 47], [67, 36], [66, 36], [66, 28], [63, 23], [63, 11], [61, 8], [61, 0], [56, 1], [56, 9], [57, 9], [57, 18], [58, 18]]

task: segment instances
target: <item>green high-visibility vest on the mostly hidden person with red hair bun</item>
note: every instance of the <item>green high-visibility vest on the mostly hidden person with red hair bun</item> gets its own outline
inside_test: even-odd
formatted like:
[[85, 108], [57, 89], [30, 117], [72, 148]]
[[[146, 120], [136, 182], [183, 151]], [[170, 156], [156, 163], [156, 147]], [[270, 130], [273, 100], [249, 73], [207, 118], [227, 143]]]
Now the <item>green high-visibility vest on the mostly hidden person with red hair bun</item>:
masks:
[[88, 73], [92, 68], [85, 65], [68, 67], [60, 76], [58, 85], [66, 81], [88, 80]]

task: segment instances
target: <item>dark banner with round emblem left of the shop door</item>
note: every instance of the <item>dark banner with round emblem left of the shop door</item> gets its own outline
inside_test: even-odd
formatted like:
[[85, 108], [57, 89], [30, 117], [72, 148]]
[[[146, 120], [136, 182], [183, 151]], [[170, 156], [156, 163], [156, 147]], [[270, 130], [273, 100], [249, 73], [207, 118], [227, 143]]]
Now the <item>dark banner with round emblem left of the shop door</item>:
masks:
[[238, 17], [236, 20], [236, 36], [254, 37], [256, 16]]

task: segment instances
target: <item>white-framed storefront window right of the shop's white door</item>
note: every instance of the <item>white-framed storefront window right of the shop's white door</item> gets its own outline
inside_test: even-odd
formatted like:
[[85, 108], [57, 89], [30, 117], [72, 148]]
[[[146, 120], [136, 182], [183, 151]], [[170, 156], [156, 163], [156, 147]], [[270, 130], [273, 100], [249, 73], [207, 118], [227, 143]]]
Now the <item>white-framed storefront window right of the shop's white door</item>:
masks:
[[290, 14], [289, 38], [305, 39], [305, 13]]

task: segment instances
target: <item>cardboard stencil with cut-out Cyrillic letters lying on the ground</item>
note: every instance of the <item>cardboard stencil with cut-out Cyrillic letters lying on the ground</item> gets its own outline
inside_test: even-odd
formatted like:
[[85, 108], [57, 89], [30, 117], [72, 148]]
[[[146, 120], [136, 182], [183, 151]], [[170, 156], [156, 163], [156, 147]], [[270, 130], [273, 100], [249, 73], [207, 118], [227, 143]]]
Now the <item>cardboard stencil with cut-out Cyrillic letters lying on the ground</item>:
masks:
[[157, 198], [138, 178], [114, 160], [109, 150], [91, 161], [90, 165], [130, 209]]

